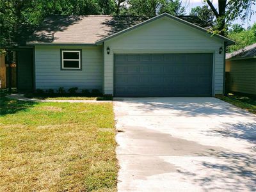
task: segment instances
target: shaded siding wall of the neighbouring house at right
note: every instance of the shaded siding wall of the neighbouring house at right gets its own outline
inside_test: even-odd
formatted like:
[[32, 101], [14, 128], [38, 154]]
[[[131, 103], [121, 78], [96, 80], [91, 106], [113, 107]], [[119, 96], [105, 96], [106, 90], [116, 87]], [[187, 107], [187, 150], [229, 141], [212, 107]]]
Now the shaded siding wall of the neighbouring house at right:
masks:
[[256, 94], [256, 60], [230, 61], [230, 91]]

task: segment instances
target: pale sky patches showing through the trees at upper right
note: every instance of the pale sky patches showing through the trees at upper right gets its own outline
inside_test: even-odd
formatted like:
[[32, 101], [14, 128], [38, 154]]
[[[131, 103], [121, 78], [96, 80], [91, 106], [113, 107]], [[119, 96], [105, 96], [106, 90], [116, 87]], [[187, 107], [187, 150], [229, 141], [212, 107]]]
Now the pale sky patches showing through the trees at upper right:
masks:
[[[205, 3], [203, 3], [204, 0], [182, 0], [182, 5], [185, 6], [187, 15], [189, 15], [191, 8], [194, 8], [195, 6], [202, 6]], [[218, 8], [218, 0], [212, 0], [212, 4], [214, 7]], [[256, 6], [252, 7], [252, 10], [256, 10]], [[252, 15], [251, 20], [235, 20], [233, 23], [234, 24], [241, 24], [243, 25], [244, 28], [247, 28], [248, 26], [252, 26], [253, 23], [256, 22], [256, 14]]]

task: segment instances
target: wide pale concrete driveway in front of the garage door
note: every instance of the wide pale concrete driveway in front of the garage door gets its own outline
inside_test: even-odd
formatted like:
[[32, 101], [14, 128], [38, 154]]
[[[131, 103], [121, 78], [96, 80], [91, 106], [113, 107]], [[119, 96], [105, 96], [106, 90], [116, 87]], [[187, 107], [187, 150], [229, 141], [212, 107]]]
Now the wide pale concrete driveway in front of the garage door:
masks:
[[256, 116], [215, 98], [115, 99], [118, 191], [256, 191]]

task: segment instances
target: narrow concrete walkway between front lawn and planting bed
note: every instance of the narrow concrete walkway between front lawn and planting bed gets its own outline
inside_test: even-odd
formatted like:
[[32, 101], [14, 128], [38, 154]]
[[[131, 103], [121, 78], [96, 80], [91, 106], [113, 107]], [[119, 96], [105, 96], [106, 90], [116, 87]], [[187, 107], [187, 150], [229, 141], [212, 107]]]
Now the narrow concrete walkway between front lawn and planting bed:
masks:
[[112, 102], [112, 100], [57, 100], [57, 99], [32, 99], [24, 97], [23, 94], [12, 94], [7, 95], [6, 97], [10, 99], [24, 100], [24, 101], [33, 101], [33, 102], [83, 102], [83, 103], [100, 103], [100, 102]]

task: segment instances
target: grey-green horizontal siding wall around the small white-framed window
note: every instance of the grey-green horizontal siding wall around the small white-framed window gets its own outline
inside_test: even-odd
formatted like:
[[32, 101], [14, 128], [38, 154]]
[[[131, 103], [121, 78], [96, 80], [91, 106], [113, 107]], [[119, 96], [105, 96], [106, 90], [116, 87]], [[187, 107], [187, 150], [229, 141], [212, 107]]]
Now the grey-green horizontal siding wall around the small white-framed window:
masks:
[[[60, 49], [82, 49], [82, 70], [61, 70]], [[57, 90], [77, 87], [102, 91], [102, 46], [35, 46], [35, 88]]]

